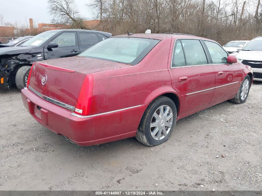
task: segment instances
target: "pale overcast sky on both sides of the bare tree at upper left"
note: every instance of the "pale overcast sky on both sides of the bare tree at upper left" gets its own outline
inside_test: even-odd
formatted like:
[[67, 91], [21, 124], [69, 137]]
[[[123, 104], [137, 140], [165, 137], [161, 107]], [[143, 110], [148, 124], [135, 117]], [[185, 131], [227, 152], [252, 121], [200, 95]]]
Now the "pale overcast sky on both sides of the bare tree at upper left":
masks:
[[[4, 22], [29, 24], [32, 18], [35, 24], [50, 23], [52, 16], [48, 13], [47, 0], [0, 0], [0, 14]], [[78, 10], [83, 17], [92, 19], [93, 13], [87, 9], [85, 3], [89, 0], [75, 0]]]

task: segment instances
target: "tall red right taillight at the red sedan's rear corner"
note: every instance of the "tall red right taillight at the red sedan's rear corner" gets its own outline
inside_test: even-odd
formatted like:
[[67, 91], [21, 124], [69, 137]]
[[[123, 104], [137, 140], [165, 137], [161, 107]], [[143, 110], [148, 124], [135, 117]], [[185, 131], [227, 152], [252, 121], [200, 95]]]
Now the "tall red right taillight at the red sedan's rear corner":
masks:
[[92, 74], [88, 74], [85, 76], [83, 81], [77, 105], [75, 108], [75, 113], [80, 115], [89, 115], [91, 109], [91, 102], [93, 96], [93, 84], [94, 78]]

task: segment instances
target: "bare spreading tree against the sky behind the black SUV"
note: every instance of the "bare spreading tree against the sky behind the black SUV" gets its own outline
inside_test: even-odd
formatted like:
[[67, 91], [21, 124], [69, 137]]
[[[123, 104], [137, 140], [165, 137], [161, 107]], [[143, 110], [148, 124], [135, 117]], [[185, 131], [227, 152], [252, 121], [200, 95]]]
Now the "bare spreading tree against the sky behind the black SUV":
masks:
[[87, 29], [82, 23], [83, 18], [80, 16], [74, 0], [48, 0], [48, 9], [54, 17], [52, 22]]

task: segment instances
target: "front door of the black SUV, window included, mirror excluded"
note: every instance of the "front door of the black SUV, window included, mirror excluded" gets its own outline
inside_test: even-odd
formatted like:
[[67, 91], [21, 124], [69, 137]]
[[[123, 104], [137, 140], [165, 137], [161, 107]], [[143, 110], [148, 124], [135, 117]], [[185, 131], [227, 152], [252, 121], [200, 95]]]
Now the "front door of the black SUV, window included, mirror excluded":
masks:
[[[47, 48], [50, 42], [56, 42], [57, 48]], [[45, 59], [57, 59], [79, 54], [76, 32], [63, 32], [50, 41], [44, 48]]]

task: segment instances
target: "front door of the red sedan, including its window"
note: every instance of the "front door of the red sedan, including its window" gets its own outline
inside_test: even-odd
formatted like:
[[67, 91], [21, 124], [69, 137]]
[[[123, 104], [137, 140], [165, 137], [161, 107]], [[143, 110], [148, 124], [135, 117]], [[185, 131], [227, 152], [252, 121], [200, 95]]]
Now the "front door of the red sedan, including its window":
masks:
[[215, 92], [210, 103], [214, 105], [232, 98], [237, 93], [242, 73], [237, 63], [227, 63], [228, 54], [219, 44], [212, 41], [203, 43], [215, 71]]

